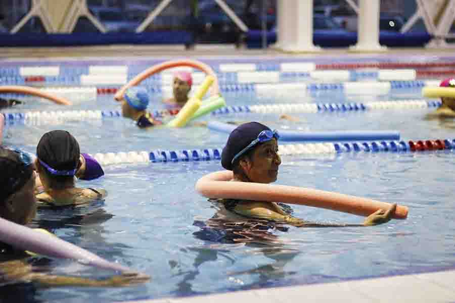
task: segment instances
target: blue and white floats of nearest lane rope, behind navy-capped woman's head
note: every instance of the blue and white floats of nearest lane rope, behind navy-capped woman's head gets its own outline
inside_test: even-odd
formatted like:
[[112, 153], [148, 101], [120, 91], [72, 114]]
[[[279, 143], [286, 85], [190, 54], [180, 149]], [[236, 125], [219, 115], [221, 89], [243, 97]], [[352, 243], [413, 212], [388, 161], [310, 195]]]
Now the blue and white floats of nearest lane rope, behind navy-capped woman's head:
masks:
[[[455, 150], [455, 139], [443, 140], [444, 150]], [[305, 143], [281, 144], [280, 156], [292, 155], [335, 155], [342, 153], [414, 153], [406, 141], [370, 141], [370, 142], [337, 142], [337, 143]], [[101, 165], [148, 163], [148, 162], [189, 162], [220, 160], [222, 148], [179, 149], [153, 151], [129, 151], [128, 153], [95, 154]]]

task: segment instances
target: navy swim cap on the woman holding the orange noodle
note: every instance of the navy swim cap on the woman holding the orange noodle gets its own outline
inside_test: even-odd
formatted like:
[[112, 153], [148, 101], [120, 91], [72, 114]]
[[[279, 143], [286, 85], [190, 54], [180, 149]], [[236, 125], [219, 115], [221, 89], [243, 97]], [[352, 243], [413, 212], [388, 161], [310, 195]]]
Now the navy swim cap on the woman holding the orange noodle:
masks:
[[248, 122], [239, 125], [229, 135], [228, 142], [221, 153], [221, 165], [227, 170], [232, 170], [232, 160], [247, 147], [263, 130], [270, 130], [267, 126], [259, 122]]

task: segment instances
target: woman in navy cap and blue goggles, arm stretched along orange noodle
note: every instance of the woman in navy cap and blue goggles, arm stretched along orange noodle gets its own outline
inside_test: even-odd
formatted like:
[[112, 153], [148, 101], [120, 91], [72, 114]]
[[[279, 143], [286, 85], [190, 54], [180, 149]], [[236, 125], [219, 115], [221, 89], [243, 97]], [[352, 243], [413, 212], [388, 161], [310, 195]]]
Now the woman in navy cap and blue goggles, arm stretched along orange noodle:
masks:
[[[234, 129], [221, 154], [221, 165], [234, 173], [232, 181], [271, 183], [278, 177], [281, 158], [278, 155], [276, 130], [258, 122], [249, 122]], [[365, 219], [362, 224], [324, 224], [307, 222], [290, 215], [289, 206], [264, 201], [222, 199], [226, 210], [237, 215], [287, 223], [302, 227], [370, 226], [390, 221], [396, 205], [387, 211], [379, 210]]]

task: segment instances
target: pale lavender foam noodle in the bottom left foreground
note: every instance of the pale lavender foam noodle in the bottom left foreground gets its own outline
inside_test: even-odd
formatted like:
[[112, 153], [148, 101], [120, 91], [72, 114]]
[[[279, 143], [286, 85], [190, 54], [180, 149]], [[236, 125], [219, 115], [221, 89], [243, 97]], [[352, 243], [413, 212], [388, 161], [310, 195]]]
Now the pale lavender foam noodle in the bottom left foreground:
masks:
[[74, 259], [83, 265], [133, 272], [127, 267], [109, 262], [92, 252], [31, 228], [0, 218], [0, 241], [14, 247], [33, 251], [35, 254], [54, 258]]

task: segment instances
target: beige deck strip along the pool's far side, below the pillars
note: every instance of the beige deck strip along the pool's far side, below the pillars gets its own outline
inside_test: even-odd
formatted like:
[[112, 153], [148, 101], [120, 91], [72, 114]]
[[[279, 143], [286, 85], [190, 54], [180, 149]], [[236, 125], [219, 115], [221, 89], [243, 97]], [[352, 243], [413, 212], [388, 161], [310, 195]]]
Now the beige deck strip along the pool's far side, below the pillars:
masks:
[[235, 45], [202, 44], [194, 49], [185, 50], [184, 45], [101, 45], [101, 46], [72, 46], [72, 47], [0, 47], [0, 60], [24, 58], [36, 60], [45, 58], [49, 60], [70, 58], [80, 59], [84, 57], [109, 57], [119, 60], [127, 57], [153, 57], [153, 58], [248, 58], [255, 57], [264, 59], [288, 57], [288, 58], [327, 58], [331, 57], [409, 57], [409, 56], [453, 56], [455, 47], [450, 48], [388, 48], [386, 52], [351, 52], [347, 48], [324, 48], [318, 53], [284, 53], [274, 48], [246, 49], [236, 48]]

